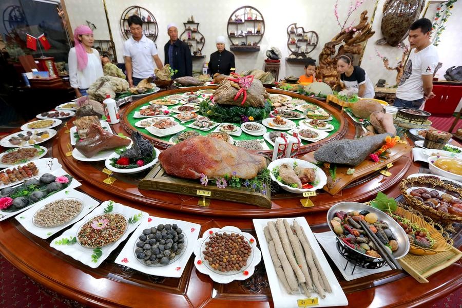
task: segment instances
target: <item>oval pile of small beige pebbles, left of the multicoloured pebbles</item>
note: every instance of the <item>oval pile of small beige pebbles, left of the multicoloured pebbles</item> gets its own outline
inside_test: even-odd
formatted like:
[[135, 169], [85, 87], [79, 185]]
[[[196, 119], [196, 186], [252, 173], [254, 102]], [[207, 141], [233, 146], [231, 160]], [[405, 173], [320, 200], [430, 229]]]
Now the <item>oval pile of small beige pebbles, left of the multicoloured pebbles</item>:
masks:
[[59, 199], [37, 210], [33, 223], [36, 226], [52, 228], [68, 223], [79, 215], [83, 203], [76, 199]]

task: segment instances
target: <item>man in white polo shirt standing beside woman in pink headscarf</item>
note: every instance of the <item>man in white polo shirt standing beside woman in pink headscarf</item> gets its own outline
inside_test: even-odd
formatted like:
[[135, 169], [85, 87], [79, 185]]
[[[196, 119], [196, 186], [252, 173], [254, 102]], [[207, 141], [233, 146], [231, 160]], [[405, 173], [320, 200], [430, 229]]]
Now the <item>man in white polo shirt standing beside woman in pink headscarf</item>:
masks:
[[124, 43], [125, 69], [130, 87], [154, 74], [154, 62], [163, 67], [156, 45], [143, 34], [143, 21], [137, 15], [128, 17], [131, 37]]

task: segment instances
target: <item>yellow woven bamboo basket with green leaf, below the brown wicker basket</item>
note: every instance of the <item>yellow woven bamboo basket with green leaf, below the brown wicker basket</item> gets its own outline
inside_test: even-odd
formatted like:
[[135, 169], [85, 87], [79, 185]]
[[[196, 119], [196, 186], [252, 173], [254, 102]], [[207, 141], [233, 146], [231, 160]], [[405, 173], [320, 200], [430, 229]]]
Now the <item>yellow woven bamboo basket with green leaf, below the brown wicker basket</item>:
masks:
[[[403, 204], [399, 204], [393, 214], [402, 216], [421, 228], [426, 228], [428, 230], [428, 235], [434, 240], [432, 248], [423, 248], [415, 244], [411, 244], [409, 248], [409, 252], [411, 254], [419, 256], [434, 255], [451, 249], [451, 245], [454, 241], [449, 237], [449, 234], [443, 230], [442, 226], [434, 223], [430, 217], [423, 216], [418, 210], [412, 209]], [[435, 228], [435, 225], [441, 230], [441, 232]]]

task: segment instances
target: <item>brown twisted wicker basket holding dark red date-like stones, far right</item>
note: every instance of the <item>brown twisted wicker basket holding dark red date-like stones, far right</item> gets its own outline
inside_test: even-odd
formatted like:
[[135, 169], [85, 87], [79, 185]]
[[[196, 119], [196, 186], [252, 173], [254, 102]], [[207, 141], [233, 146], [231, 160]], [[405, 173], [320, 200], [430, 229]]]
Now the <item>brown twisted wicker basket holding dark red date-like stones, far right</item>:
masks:
[[[452, 223], [460, 223], [462, 222], [462, 217], [457, 215], [452, 215], [449, 213], [444, 213], [439, 210], [435, 210], [430, 206], [424, 205], [423, 202], [419, 201], [418, 199], [412, 197], [411, 195], [407, 194], [406, 190], [410, 187], [425, 187], [431, 188], [435, 190], [439, 190], [442, 192], [446, 192], [447, 194], [457, 194], [458, 198], [460, 199], [462, 196], [462, 188], [456, 188], [451, 184], [446, 184], [441, 182], [440, 180], [428, 178], [428, 177], [418, 177], [418, 178], [409, 178], [403, 179], [401, 181], [400, 189], [402, 196], [406, 199], [406, 203], [420, 211], [422, 214], [430, 217], [433, 221], [441, 223], [441, 224], [448, 224], [448, 226], [444, 226], [445, 228], [452, 229]], [[451, 194], [452, 193], [452, 194]]]

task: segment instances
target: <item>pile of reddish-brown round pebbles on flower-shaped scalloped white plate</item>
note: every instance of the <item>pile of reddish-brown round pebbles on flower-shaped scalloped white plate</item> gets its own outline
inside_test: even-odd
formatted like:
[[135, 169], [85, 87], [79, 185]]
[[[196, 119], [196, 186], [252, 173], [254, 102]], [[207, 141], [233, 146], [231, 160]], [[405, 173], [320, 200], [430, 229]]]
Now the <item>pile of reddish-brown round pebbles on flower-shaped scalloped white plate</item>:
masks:
[[215, 233], [205, 242], [204, 260], [218, 272], [240, 271], [247, 265], [252, 254], [252, 247], [244, 236], [224, 232]]

